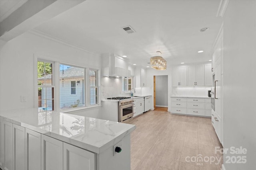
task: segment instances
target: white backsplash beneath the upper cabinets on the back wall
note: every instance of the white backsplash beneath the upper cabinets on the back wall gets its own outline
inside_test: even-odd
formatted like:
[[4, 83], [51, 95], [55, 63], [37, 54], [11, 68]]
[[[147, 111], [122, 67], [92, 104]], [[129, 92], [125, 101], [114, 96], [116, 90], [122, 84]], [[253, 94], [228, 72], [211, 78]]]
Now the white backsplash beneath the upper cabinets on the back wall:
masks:
[[203, 96], [208, 97], [210, 87], [174, 87], [172, 88], [172, 96]]

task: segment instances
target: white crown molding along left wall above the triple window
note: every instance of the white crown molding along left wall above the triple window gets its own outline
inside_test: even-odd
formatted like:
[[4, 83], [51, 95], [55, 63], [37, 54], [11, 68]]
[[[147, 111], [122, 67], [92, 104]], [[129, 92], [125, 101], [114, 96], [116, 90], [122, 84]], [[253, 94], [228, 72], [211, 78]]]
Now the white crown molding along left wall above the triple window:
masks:
[[87, 53], [91, 53], [91, 54], [94, 54], [94, 55], [97, 55], [97, 56], [101, 57], [101, 54], [96, 53], [95, 51], [90, 51], [90, 50], [85, 49], [85, 48], [83, 48], [83, 47], [79, 47], [78, 45], [70, 44], [70, 43], [68, 43], [67, 41], [64, 41], [64, 40], [62, 40], [62, 39], [60, 39], [60, 38], [57, 38], [57, 37], [54, 37], [54, 36], [52, 36], [52, 35], [46, 34], [46, 33], [42, 32], [42, 31], [38, 31], [38, 30], [36, 30], [36, 29], [31, 29], [31, 30], [28, 31], [28, 33], [31, 33], [31, 34], [34, 34], [34, 35], [38, 35], [38, 36], [40, 36], [40, 37], [43, 37], [43, 38], [46, 38], [46, 39], [50, 39], [50, 40], [52, 40], [52, 41], [61, 43], [61, 44], [63, 44], [63, 45], [66, 45], [66, 46], [69, 46], [69, 47], [73, 47], [73, 48], [75, 48], [75, 49], [79, 49], [79, 50], [81, 50], [81, 51], [85, 51], [85, 52], [87, 52]]

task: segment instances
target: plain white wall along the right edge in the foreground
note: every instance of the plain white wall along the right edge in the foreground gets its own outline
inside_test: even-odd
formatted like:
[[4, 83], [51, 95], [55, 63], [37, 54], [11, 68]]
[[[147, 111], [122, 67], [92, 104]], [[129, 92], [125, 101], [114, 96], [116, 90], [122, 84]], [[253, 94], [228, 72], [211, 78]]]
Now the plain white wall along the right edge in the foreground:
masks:
[[[243, 147], [247, 154], [224, 154], [226, 170], [256, 168], [256, 1], [230, 0], [224, 15], [224, 148]], [[246, 156], [245, 164], [226, 156]]]

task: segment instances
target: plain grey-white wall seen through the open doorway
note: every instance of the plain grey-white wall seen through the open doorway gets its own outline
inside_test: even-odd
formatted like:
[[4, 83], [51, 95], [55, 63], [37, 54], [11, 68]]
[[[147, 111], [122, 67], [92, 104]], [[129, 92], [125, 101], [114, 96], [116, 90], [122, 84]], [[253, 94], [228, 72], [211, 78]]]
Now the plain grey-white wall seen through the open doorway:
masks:
[[168, 76], [156, 76], [156, 106], [168, 107]]

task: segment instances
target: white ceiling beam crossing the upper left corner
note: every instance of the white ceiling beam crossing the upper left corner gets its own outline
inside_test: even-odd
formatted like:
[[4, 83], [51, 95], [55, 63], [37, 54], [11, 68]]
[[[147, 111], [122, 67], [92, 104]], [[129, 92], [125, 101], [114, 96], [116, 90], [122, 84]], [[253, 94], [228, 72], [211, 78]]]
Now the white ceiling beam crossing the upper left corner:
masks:
[[50, 20], [85, 0], [28, 0], [0, 22], [0, 39], [11, 39]]

